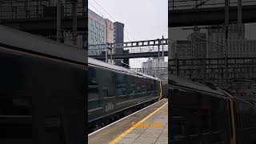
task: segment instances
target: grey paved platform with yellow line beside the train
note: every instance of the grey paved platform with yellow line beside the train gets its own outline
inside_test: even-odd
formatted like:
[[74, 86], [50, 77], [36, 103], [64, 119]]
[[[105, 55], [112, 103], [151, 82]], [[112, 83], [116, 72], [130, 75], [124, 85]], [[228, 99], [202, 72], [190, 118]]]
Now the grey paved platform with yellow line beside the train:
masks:
[[168, 99], [147, 106], [88, 135], [90, 144], [167, 144]]

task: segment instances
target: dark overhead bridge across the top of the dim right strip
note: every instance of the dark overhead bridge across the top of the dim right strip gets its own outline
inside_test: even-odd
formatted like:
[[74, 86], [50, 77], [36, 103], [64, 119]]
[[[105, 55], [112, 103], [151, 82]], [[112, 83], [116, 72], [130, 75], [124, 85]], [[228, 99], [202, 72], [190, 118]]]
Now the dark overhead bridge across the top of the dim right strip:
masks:
[[[225, 22], [225, 9], [223, 8], [225, 1], [223, 0], [220, 2], [207, 1], [198, 10], [194, 10], [193, 1], [183, 1], [185, 3], [183, 6], [180, 6], [179, 2], [182, 1], [169, 0], [168, 27], [220, 25]], [[208, 6], [207, 3], [209, 4]], [[256, 22], [256, 15], [251, 15], [256, 13], [255, 3], [255, 1], [242, 3], [242, 22]], [[238, 6], [230, 6], [230, 22], [237, 22], [237, 15]]]

